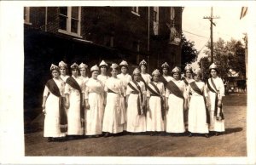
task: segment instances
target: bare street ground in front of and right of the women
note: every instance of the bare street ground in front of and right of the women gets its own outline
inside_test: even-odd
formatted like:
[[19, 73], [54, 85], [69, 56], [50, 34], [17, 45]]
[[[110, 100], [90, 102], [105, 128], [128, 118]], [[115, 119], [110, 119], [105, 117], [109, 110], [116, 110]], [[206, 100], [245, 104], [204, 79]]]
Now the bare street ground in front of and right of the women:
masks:
[[[220, 136], [123, 135], [48, 143], [42, 128], [25, 134], [26, 156], [247, 156], [246, 94], [224, 97], [225, 134]], [[38, 117], [32, 124], [42, 127]]]

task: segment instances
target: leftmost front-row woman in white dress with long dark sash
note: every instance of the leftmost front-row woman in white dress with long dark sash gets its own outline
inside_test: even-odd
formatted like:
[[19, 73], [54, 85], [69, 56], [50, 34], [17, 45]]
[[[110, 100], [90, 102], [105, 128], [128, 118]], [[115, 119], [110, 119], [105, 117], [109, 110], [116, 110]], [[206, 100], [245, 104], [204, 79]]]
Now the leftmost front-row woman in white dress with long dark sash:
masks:
[[46, 83], [44, 88], [43, 111], [44, 111], [44, 137], [48, 142], [55, 141], [66, 134], [61, 133], [61, 127], [67, 128], [67, 116], [64, 109], [64, 82], [60, 77], [58, 66], [51, 65], [52, 79]]

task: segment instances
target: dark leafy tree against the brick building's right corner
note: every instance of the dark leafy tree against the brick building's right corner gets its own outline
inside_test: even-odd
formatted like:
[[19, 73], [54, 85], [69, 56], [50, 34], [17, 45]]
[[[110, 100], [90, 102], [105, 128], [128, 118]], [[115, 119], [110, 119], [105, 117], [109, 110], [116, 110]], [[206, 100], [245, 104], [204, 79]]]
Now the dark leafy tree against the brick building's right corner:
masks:
[[187, 63], [191, 63], [197, 57], [197, 50], [194, 48], [195, 42], [188, 41], [182, 34], [182, 61], [181, 65], [184, 67]]

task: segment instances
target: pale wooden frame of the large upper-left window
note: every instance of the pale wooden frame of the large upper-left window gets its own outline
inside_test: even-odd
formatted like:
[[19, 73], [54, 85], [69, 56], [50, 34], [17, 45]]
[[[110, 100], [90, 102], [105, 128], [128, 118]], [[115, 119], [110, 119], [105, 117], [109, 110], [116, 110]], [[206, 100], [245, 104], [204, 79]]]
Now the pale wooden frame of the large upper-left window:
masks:
[[[71, 24], [72, 24], [72, 8], [73, 7], [78, 7], [79, 8], [79, 19], [78, 19], [78, 32], [75, 33], [75, 32], [72, 32], [72, 29], [71, 29]], [[67, 7], [67, 15], [64, 15], [64, 14], [61, 14], [59, 13], [59, 16], [62, 15], [62, 16], [67, 16], [67, 30], [63, 30], [63, 29], [60, 29], [60, 26], [59, 26], [59, 29], [58, 29], [58, 32], [60, 33], [63, 33], [63, 34], [67, 34], [67, 35], [70, 35], [70, 36], [73, 36], [73, 37], [79, 37], [79, 38], [82, 38], [81, 36], [81, 7], [80, 6], [69, 6]]]

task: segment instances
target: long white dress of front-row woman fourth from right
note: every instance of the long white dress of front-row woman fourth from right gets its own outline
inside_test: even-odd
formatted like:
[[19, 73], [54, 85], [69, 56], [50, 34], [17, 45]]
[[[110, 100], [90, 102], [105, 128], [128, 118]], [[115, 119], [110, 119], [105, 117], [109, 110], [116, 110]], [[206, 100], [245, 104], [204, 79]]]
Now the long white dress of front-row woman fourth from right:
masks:
[[[159, 88], [160, 95], [165, 97], [164, 83], [155, 83], [155, 86]], [[152, 89], [154, 87], [149, 83], [148, 86]], [[147, 131], [165, 131], [165, 122], [162, 120], [161, 115], [161, 101], [160, 97], [151, 95], [151, 92], [147, 91], [147, 97], [149, 98], [149, 110], [147, 111]]]

